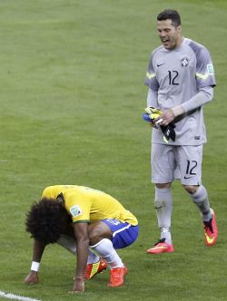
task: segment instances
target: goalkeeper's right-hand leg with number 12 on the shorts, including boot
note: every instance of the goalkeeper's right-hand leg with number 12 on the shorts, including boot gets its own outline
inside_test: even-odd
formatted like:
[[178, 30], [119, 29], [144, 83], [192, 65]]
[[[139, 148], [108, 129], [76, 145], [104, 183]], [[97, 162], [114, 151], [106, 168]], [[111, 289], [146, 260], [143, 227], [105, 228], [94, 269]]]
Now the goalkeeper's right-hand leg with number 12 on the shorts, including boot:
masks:
[[204, 225], [204, 240], [208, 247], [216, 243], [218, 228], [211, 209], [207, 190], [202, 186], [202, 145], [179, 148], [183, 188], [189, 193], [201, 212]]

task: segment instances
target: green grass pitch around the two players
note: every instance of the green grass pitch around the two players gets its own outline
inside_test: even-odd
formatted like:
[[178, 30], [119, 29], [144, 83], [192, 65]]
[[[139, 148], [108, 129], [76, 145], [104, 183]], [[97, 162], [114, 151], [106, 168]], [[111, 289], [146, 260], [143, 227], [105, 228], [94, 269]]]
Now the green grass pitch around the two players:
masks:
[[[212, 53], [217, 87], [204, 108], [202, 179], [220, 235], [205, 247], [199, 212], [175, 182], [175, 252], [152, 257], [145, 249], [159, 232], [141, 115], [165, 8], [179, 10], [183, 34]], [[43, 301], [226, 300], [226, 16], [224, 0], [0, 1], [0, 291]], [[40, 284], [24, 285], [32, 257], [25, 212], [44, 187], [64, 183], [103, 189], [139, 219], [138, 240], [119, 252], [125, 286], [107, 287], [105, 272], [84, 294], [67, 294], [75, 259], [58, 246], [44, 253]]]

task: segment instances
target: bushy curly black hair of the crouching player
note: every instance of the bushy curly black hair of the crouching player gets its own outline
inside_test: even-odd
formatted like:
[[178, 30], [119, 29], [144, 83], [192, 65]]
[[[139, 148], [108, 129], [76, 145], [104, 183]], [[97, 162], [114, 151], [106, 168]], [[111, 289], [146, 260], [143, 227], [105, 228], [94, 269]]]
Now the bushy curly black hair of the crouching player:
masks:
[[64, 233], [64, 229], [72, 222], [64, 205], [56, 199], [43, 198], [35, 202], [26, 213], [26, 231], [31, 238], [53, 244]]

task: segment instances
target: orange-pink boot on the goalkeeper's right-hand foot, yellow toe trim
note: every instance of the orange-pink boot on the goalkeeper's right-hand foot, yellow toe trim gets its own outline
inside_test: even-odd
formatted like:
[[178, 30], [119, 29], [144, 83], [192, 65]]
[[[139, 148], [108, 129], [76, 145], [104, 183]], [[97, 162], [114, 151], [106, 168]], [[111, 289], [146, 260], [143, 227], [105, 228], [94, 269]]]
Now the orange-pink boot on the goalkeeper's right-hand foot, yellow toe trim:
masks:
[[204, 240], [207, 247], [216, 244], [218, 238], [218, 227], [216, 224], [215, 213], [212, 209], [212, 218], [209, 221], [203, 221], [204, 224]]

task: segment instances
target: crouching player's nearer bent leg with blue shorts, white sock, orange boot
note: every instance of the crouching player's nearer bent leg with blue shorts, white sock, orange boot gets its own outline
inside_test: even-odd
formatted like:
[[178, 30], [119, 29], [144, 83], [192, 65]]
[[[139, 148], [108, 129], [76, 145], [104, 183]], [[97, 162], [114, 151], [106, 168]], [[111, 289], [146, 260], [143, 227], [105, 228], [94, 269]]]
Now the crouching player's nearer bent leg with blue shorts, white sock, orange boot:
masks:
[[123, 285], [127, 268], [116, 249], [131, 245], [137, 236], [137, 226], [133, 227], [117, 219], [104, 219], [89, 226], [90, 248], [103, 257], [111, 269], [108, 286]]

